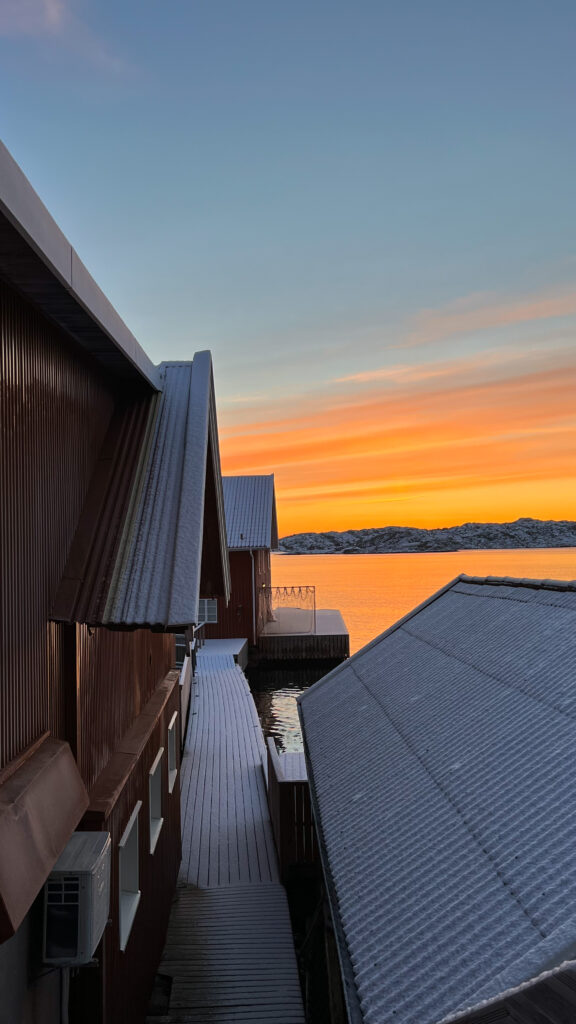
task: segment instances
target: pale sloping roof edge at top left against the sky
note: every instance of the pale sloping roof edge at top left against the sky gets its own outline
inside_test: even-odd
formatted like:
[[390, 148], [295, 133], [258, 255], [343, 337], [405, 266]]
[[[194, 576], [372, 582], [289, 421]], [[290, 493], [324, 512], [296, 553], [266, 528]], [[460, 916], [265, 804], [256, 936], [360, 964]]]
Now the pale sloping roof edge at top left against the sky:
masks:
[[157, 388], [157, 369], [0, 141], [0, 211], [138, 373]]

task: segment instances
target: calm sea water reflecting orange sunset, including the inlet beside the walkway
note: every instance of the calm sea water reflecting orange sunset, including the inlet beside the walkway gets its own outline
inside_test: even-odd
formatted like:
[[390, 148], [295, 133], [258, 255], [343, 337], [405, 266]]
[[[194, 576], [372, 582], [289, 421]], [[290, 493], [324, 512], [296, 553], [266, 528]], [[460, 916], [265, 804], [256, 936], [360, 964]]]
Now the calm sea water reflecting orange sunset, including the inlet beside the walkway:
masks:
[[[314, 586], [319, 608], [338, 608], [351, 653], [460, 572], [468, 575], [576, 580], [576, 548], [450, 551], [413, 555], [273, 555], [276, 587]], [[305, 674], [304, 674], [305, 676]], [[266, 735], [283, 750], [301, 750], [296, 696], [314, 678], [282, 673], [251, 680]]]

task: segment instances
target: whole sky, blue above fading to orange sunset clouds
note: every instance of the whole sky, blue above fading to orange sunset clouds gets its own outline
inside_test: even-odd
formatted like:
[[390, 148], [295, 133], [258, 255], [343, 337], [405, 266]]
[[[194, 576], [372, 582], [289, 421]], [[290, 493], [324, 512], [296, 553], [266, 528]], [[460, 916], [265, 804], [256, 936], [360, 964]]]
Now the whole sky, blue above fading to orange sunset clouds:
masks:
[[281, 535], [576, 519], [574, 0], [0, 0], [0, 135]]

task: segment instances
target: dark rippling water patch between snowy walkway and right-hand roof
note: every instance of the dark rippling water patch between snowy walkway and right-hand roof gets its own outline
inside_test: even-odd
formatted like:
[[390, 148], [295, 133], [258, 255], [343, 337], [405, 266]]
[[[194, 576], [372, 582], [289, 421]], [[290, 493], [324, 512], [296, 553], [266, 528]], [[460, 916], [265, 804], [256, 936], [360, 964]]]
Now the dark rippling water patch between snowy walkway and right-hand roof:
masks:
[[246, 675], [254, 696], [264, 736], [274, 736], [279, 751], [302, 750], [296, 697], [321, 679], [331, 666], [311, 668], [248, 669]]

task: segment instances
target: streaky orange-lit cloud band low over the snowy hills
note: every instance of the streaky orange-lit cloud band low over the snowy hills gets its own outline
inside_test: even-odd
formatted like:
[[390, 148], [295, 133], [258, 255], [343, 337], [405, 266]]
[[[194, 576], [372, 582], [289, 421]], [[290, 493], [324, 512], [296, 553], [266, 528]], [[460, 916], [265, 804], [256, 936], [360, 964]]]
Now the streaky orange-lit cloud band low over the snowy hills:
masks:
[[393, 389], [352, 381], [251, 416], [224, 410], [223, 472], [276, 474], [283, 532], [424, 524], [433, 509], [454, 522], [456, 507], [475, 519], [481, 493], [482, 518], [503, 518], [504, 497], [505, 515], [576, 517], [574, 348], [400, 370]]

